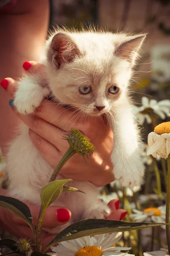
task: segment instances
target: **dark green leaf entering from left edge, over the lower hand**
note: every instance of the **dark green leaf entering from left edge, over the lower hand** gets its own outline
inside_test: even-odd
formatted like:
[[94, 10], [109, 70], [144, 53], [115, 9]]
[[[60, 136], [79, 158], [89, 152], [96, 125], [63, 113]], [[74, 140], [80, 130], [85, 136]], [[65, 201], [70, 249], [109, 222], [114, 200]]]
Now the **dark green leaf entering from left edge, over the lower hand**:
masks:
[[13, 212], [18, 217], [23, 218], [23, 220], [26, 221], [35, 234], [32, 215], [29, 207], [26, 204], [16, 198], [0, 195], [0, 206]]

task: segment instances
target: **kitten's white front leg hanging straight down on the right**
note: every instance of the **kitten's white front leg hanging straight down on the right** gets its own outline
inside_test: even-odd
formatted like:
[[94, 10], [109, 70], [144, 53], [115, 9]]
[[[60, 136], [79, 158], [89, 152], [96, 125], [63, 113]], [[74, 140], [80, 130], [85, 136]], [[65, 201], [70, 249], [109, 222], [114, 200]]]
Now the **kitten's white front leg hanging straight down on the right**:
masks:
[[138, 129], [130, 105], [119, 108], [114, 119], [114, 148], [111, 155], [114, 176], [122, 186], [140, 185], [144, 176], [144, 165], [141, 160]]

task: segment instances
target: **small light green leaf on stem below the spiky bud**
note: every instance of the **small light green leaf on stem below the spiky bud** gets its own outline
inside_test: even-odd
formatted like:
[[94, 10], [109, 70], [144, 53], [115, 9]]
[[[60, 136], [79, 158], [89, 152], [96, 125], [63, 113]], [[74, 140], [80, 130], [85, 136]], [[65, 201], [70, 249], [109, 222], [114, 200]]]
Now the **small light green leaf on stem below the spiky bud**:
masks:
[[42, 211], [52, 204], [62, 193], [63, 185], [71, 179], [54, 180], [42, 187], [40, 197]]

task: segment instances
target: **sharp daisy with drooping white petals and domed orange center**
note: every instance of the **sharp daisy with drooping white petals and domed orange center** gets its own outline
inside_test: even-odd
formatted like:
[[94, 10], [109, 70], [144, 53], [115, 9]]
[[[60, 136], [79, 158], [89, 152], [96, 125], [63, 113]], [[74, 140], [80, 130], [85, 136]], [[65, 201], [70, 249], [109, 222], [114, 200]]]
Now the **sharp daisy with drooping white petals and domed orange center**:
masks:
[[167, 159], [170, 154], [170, 122], [163, 122], [157, 125], [147, 139], [149, 150], [147, 154], [156, 157], [157, 154]]

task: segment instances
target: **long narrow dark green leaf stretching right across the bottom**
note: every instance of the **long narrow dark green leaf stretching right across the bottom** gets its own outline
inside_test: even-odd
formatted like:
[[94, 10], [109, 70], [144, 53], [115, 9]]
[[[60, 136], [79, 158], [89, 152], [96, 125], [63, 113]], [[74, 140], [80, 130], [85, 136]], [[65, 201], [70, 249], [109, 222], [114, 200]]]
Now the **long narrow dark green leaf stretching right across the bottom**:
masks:
[[161, 225], [164, 224], [112, 221], [104, 219], [85, 219], [83, 221], [77, 221], [76, 223], [71, 224], [58, 233], [57, 236], [55, 236], [54, 239], [45, 247], [43, 252], [46, 252], [49, 247], [56, 243], [77, 239], [83, 236], [137, 230], [144, 227], [156, 227]]

